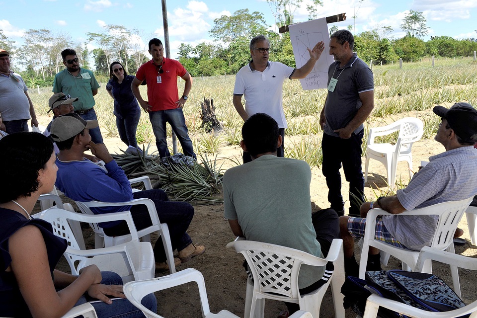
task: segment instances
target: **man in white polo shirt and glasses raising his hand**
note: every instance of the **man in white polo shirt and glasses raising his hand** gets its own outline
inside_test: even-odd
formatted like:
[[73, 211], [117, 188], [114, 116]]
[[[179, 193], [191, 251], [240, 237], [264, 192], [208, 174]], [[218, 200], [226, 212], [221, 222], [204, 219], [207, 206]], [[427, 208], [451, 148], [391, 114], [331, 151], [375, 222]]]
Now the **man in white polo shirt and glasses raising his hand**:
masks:
[[[234, 106], [243, 121], [256, 113], [264, 113], [278, 123], [279, 133], [285, 138], [287, 121], [283, 113], [283, 82], [285, 79], [303, 79], [315, 66], [324, 50], [324, 43], [320, 41], [313, 47], [307, 48], [310, 60], [299, 69], [295, 69], [279, 62], [269, 62], [268, 53], [270, 42], [263, 35], [258, 35], [250, 41], [250, 55], [252, 61], [242, 67], [235, 78]], [[242, 104], [242, 95], [245, 96], [245, 107]], [[283, 157], [283, 143], [277, 150], [277, 156]], [[248, 153], [243, 153], [243, 163], [250, 162]]]

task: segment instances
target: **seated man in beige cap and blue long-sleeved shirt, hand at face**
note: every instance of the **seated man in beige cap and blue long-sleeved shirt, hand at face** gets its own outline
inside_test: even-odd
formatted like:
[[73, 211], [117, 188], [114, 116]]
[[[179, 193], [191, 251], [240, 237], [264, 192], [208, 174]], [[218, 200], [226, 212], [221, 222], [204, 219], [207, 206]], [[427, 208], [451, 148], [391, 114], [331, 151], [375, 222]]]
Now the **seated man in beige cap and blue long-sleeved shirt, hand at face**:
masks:
[[[75, 201], [127, 202], [132, 199], [148, 198], [156, 205], [159, 220], [169, 227], [172, 250], [177, 249], [179, 257], [174, 259], [175, 266], [202, 254], [204, 246], [195, 245], [186, 233], [194, 208], [187, 202], [171, 202], [167, 194], [160, 189], [133, 193], [128, 178], [121, 167], [111, 157], [104, 144], [95, 144], [89, 136], [89, 129], [98, 126], [97, 120], [85, 121], [77, 113], [56, 118], [51, 125], [51, 139], [56, 142], [60, 153], [56, 186]], [[90, 160], [84, 159], [84, 152], [91, 150], [94, 156], [105, 162], [105, 170]], [[119, 211], [131, 211], [138, 230], [151, 225], [149, 211], [144, 205], [91, 208], [93, 213], [103, 214]], [[122, 221], [101, 223], [107, 236], [120, 236], [129, 233]], [[168, 270], [162, 240], [154, 246], [157, 270]]]

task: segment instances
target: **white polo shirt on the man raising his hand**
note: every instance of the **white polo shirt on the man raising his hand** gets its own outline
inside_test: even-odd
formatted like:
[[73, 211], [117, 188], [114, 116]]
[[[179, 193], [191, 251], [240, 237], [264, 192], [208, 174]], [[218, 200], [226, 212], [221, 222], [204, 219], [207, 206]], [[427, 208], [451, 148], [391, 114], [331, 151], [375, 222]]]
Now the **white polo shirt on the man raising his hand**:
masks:
[[253, 70], [250, 64], [242, 67], [235, 78], [234, 95], [245, 95], [248, 116], [265, 113], [276, 120], [278, 128], [287, 128], [283, 113], [283, 82], [295, 69], [279, 62], [267, 64], [263, 72]]

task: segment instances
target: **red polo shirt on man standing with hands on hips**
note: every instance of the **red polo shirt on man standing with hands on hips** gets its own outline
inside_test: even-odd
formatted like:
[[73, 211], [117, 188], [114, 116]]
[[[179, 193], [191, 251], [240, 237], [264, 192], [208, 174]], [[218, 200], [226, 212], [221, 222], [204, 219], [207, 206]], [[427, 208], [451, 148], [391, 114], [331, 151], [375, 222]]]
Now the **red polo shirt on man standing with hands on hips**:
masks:
[[[148, 85], [148, 103], [152, 111], [176, 109], [179, 100], [177, 77], [183, 77], [187, 70], [176, 60], [163, 58], [162, 73], [153, 60], [144, 63], [136, 73], [139, 80], [146, 79]], [[158, 77], [160, 82], [158, 83]]]

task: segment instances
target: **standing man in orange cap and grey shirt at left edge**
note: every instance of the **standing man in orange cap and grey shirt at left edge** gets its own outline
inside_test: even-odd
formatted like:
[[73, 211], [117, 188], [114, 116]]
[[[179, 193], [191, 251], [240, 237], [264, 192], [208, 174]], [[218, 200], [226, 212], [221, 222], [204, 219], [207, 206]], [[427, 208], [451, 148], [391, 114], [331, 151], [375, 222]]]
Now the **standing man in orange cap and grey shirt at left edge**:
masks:
[[35, 109], [28, 96], [28, 88], [21, 76], [10, 70], [10, 53], [0, 49], [0, 130], [8, 134], [28, 131], [28, 120], [38, 127]]

